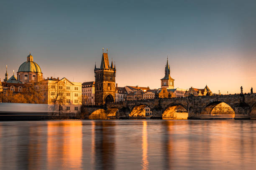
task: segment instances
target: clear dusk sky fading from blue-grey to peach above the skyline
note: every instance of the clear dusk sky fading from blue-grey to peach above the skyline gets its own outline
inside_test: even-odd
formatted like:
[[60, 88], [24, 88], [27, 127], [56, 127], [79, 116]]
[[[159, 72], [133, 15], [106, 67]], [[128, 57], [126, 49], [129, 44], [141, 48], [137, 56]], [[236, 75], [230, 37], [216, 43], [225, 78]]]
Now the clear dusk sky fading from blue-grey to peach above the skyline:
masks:
[[94, 81], [102, 47], [119, 87], [256, 91], [255, 0], [2, 0], [0, 78], [31, 51], [43, 76]]

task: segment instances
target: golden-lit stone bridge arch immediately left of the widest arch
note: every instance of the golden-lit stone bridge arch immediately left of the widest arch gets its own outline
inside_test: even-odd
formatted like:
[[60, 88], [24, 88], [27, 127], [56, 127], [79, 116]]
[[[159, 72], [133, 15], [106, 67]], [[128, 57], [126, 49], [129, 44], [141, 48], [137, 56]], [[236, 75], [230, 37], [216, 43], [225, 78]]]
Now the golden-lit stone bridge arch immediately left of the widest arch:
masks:
[[162, 113], [162, 119], [187, 119], [187, 107], [181, 103], [169, 104]]

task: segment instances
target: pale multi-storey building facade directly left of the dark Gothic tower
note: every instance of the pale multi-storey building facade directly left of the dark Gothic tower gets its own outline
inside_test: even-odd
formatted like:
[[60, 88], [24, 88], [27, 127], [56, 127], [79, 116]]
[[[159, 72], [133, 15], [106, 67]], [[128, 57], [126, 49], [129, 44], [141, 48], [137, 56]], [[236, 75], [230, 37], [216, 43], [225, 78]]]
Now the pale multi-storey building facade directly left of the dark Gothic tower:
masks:
[[95, 105], [95, 82], [82, 83], [82, 104]]

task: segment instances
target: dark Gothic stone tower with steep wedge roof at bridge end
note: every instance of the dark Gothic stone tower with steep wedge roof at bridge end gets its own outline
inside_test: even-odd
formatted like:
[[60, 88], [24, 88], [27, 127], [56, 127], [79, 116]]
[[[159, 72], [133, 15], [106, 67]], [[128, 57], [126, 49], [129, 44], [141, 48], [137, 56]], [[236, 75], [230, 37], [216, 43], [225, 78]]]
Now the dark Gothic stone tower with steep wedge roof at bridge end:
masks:
[[111, 65], [107, 53], [102, 52], [100, 68], [94, 68], [95, 75], [95, 105], [104, 105], [105, 103], [115, 102], [115, 66], [113, 61]]

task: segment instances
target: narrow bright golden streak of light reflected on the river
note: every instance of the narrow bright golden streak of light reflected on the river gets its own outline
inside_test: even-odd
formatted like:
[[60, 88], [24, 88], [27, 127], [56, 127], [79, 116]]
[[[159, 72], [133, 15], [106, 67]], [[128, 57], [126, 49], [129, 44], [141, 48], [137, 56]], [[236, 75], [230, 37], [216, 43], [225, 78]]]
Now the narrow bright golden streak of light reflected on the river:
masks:
[[147, 122], [143, 121], [142, 130], [142, 170], [148, 169], [148, 136]]

